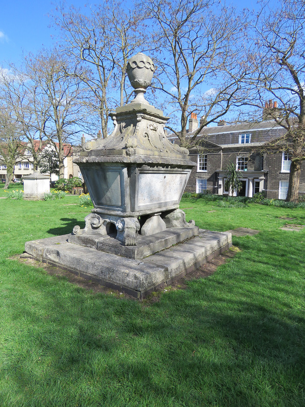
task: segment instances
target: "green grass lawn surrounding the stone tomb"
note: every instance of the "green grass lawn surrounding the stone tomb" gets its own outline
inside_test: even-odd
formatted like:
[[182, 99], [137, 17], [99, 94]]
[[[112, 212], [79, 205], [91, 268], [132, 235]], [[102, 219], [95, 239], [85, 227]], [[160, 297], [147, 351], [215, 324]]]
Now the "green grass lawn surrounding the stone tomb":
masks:
[[1, 407], [304, 407], [305, 230], [280, 230], [303, 209], [182, 199], [201, 228], [261, 232], [233, 237], [212, 276], [140, 302], [8, 259], [83, 226], [77, 202], [0, 199]]

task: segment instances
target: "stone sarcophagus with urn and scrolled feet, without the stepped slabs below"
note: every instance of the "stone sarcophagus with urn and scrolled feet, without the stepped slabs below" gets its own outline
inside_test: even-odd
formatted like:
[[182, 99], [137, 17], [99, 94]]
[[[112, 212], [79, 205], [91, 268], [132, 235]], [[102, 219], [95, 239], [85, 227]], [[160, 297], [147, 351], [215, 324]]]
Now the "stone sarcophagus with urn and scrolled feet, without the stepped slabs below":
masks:
[[178, 209], [196, 163], [187, 149], [167, 139], [168, 118], [144, 99], [154, 70], [153, 61], [143, 53], [131, 58], [127, 72], [135, 99], [111, 113], [112, 134], [85, 143], [75, 160], [94, 209], [85, 218], [84, 229], [74, 227], [72, 243], [90, 245], [90, 237], [113, 236], [134, 246], [139, 236], [169, 227], [193, 228], [193, 236], [198, 229]]

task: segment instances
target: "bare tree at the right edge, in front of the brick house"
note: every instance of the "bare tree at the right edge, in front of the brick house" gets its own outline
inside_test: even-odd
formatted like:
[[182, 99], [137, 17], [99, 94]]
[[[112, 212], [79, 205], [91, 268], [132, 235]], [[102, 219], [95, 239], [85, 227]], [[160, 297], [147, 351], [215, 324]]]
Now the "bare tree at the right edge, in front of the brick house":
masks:
[[255, 37], [249, 47], [248, 61], [253, 69], [247, 79], [256, 92], [250, 104], [264, 106], [270, 96], [276, 108], [268, 105], [268, 117], [282, 126], [286, 133], [265, 144], [272, 151], [289, 154], [291, 160], [286, 200], [298, 201], [301, 163], [305, 160], [305, 3], [284, 0], [277, 9], [267, 2], [255, 14]]

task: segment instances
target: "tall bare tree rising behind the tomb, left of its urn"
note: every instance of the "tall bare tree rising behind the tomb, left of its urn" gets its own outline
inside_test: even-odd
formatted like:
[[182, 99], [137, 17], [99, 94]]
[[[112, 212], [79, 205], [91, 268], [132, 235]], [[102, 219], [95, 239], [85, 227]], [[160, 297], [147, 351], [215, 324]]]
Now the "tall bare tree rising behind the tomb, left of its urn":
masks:
[[123, 1], [111, 0], [90, 8], [88, 15], [73, 6], [68, 10], [60, 6], [53, 18], [62, 30], [63, 47], [90, 68], [79, 77], [92, 93], [90, 103], [99, 112], [102, 135], [107, 137], [109, 112], [128, 100], [126, 67], [145, 41], [142, 17]]

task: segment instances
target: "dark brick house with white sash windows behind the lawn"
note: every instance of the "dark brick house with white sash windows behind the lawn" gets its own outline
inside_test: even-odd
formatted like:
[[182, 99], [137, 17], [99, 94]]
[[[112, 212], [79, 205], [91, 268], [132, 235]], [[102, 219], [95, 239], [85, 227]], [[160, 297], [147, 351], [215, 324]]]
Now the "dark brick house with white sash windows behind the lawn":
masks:
[[[274, 108], [277, 106], [274, 105]], [[193, 113], [189, 122], [190, 136], [197, 128], [198, 120]], [[289, 155], [262, 152], [266, 141], [285, 132], [283, 127], [264, 113], [261, 122], [227, 125], [220, 121], [218, 126], [204, 128], [200, 133], [203, 137], [200, 146], [190, 150], [191, 159], [197, 162], [197, 168], [192, 170], [186, 191], [200, 193], [209, 190], [218, 195], [238, 194], [249, 197], [265, 191], [268, 198], [285, 199], [290, 171]], [[173, 135], [168, 138], [171, 142], [177, 142], [177, 137]], [[242, 173], [242, 189], [238, 193], [225, 188], [226, 168], [232, 162]], [[300, 194], [305, 193], [303, 169], [299, 191]]]

